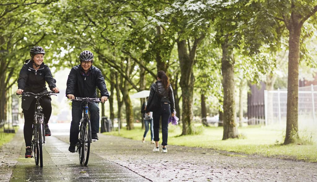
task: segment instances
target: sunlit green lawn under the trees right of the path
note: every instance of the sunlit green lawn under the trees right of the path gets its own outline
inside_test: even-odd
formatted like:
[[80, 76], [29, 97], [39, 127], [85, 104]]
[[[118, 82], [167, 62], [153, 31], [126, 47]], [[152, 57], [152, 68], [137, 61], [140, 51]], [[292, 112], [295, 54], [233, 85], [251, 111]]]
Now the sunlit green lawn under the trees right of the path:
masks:
[[[141, 129], [140, 123], [136, 123], [134, 126], [135, 129], [130, 131], [126, 130], [125, 127], [121, 129], [120, 136], [140, 140], [141, 142], [144, 130]], [[229, 140], [222, 140], [222, 127], [202, 127], [199, 124], [196, 124], [195, 127], [200, 131], [198, 132], [200, 134], [179, 136], [182, 133], [181, 126], [170, 124], [168, 144], [317, 162], [317, 142], [313, 131], [300, 131], [300, 137], [304, 141], [291, 145], [281, 145], [285, 135], [284, 128], [281, 126], [247, 126], [238, 128], [240, 139]], [[118, 131], [103, 134], [119, 136]], [[147, 134], [146, 140], [150, 141], [150, 133]]]

